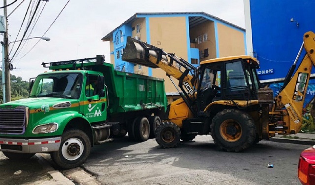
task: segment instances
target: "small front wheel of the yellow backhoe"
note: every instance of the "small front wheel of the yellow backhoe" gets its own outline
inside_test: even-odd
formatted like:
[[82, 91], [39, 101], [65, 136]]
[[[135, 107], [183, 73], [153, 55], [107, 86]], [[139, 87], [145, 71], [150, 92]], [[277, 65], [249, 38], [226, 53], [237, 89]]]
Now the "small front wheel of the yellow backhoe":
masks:
[[181, 130], [172, 122], [162, 122], [156, 130], [156, 141], [162, 148], [177, 147], [181, 139]]

